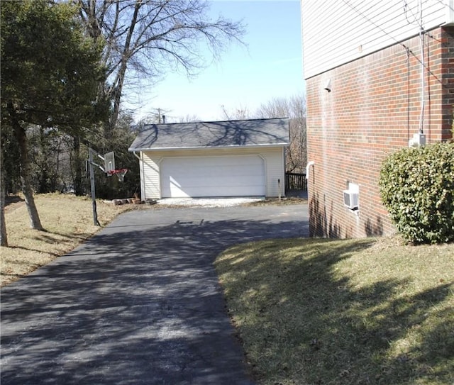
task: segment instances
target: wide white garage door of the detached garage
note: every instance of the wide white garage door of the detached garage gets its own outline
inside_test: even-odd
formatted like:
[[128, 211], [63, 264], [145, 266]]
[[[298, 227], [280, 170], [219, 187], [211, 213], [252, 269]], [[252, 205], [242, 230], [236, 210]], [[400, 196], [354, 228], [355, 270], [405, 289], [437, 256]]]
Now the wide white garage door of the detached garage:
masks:
[[265, 165], [256, 155], [167, 158], [160, 172], [165, 198], [265, 195]]

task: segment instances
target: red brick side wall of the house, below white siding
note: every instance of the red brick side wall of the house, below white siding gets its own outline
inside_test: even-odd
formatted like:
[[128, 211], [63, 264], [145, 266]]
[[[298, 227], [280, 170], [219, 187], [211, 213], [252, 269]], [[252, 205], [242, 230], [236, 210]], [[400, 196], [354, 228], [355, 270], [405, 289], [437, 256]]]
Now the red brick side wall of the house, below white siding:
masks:
[[[426, 142], [452, 137], [454, 28], [425, 36]], [[394, 232], [381, 204], [378, 177], [389, 152], [419, 130], [421, 49], [418, 37], [307, 79], [311, 235], [363, 237]], [[323, 88], [331, 80], [331, 92]], [[343, 205], [348, 182], [359, 185], [360, 208]]]

